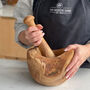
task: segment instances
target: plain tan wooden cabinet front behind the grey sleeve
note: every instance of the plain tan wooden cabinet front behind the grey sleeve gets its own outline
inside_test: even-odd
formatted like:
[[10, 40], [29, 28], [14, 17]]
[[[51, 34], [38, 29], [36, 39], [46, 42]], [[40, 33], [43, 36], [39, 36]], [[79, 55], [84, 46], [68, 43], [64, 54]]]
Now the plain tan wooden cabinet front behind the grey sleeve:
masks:
[[15, 42], [14, 18], [0, 18], [0, 56], [27, 59], [27, 49]]

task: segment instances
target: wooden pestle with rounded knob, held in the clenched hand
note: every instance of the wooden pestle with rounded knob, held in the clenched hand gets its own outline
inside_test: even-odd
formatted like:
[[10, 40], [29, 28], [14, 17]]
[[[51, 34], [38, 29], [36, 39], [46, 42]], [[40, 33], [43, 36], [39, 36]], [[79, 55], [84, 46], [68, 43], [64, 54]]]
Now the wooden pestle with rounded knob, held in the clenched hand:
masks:
[[[24, 19], [24, 23], [27, 24], [29, 27], [30, 26], [36, 26], [35, 22], [34, 22], [35, 17], [34, 16], [27, 16]], [[55, 57], [53, 51], [51, 50], [51, 48], [49, 47], [49, 45], [47, 44], [47, 42], [45, 41], [44, 38], [42, 38], [42, 42], [39, 45], [39, 49], [42, 53], [42, 55], [46, 56], [46, 57]]]

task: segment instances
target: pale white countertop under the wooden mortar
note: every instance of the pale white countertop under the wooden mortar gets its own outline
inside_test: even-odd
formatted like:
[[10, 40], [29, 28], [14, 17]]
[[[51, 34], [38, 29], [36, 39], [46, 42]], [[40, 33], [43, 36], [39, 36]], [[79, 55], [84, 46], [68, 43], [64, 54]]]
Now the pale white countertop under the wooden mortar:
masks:
[[90, 69], [80, 69], [62, 85], [46, 87], [31, 78], [26, 62], [0, 59], [0, 90], [90, 90]]

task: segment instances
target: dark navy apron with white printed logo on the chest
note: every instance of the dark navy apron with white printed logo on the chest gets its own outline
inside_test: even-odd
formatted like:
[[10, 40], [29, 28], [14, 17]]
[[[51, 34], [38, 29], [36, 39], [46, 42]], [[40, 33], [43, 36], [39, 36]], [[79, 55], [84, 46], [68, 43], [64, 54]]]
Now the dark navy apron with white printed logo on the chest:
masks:
[[54, 50], [90, 40], [89, 0], [35, 0], [33, 15]]

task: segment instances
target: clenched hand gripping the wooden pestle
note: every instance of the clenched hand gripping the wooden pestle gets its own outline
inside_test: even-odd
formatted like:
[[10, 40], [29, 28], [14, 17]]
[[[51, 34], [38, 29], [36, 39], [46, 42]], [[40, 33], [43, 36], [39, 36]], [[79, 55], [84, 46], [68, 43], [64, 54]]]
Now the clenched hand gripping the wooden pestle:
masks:
[[45, 35], [42, 31], [43, 26], [38, 24], [31, 26], [28, 30], [25, 30], [25, 39], [28, 41], [29, 45], [39, 46], [42, 42], [42, 38]]

